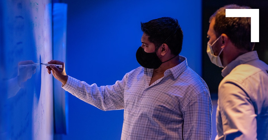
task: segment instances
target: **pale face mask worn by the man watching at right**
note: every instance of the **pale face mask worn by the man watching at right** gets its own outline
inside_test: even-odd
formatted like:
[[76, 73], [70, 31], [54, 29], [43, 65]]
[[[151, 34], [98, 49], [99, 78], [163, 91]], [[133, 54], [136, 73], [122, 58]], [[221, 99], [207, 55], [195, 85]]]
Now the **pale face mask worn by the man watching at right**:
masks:
[[221, 59], [219, 58], [219, 55], [221, 54], [221, 52], [222, 52], [222, 50], [224, 48], [221, 49], [221, 51], [219, 52], [219, 55], [218, 56], [215, 56], [214, 55], [214, 52], [212, 50], [212, 46], [219, 40], [220, 37], [221, 36], [219, 36], [211, 45], [210, 45], [209, 42], [207, 42], [207, 55], [209, 55], [209, 59], [210, 59], [210, 61], [213, 64], [215, 64], [218, 67], [222, 67], [223, 68], [224, 66], [222, 66]]

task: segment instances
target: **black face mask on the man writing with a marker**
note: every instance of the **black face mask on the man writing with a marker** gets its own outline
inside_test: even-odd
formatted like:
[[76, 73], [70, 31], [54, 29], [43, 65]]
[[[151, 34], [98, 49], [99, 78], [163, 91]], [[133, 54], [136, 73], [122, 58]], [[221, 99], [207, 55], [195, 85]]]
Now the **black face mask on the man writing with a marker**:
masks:
[[[158, 50], [158, 49], [157, 49]], [[156, 51], [155, 52], [145, 52], [144, 49], [142, 47], [139, 47], [137, 52], [136, 52], [136, 59], [138, 61], [138, 63], [148, 69], [157, 69], [160, 67], [160, 65], [162, 63], [165, 63], [169, 60], [171, 60], [172, 58], [176, 57], [172, 57], [169, 60], [162, 62], [158, 56], [156, 55]]]

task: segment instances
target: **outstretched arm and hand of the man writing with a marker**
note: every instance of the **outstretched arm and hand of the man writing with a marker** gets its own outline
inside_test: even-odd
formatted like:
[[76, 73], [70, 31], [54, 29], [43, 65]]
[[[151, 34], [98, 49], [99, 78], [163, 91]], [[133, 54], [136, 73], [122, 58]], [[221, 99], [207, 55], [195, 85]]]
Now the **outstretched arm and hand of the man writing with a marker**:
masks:
[[124, 80], [126, 75], [123, 80], [117, 81], [114, 85], [98, 87], [96, 84], [89, 85], [84, 81], [68, 76], [65, 72], [64, 62], [51, 60], [48, 63], [62, 65], [62, 69], [54, 65], [47, 66], [47, 69], [49, 74], [52, 72], [53, 76], [62, 82], [62, 88], [69, 93], [105, 111], [124, 109]]

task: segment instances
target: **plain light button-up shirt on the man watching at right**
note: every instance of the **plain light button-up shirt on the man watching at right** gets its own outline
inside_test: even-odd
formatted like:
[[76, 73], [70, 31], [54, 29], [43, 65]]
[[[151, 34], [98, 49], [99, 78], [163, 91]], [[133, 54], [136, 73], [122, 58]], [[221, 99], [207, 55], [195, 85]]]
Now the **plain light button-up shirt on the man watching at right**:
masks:
[[256, 51], [223, 70], [216, 113], [216, 139], [268, 139], [268, 65]]

